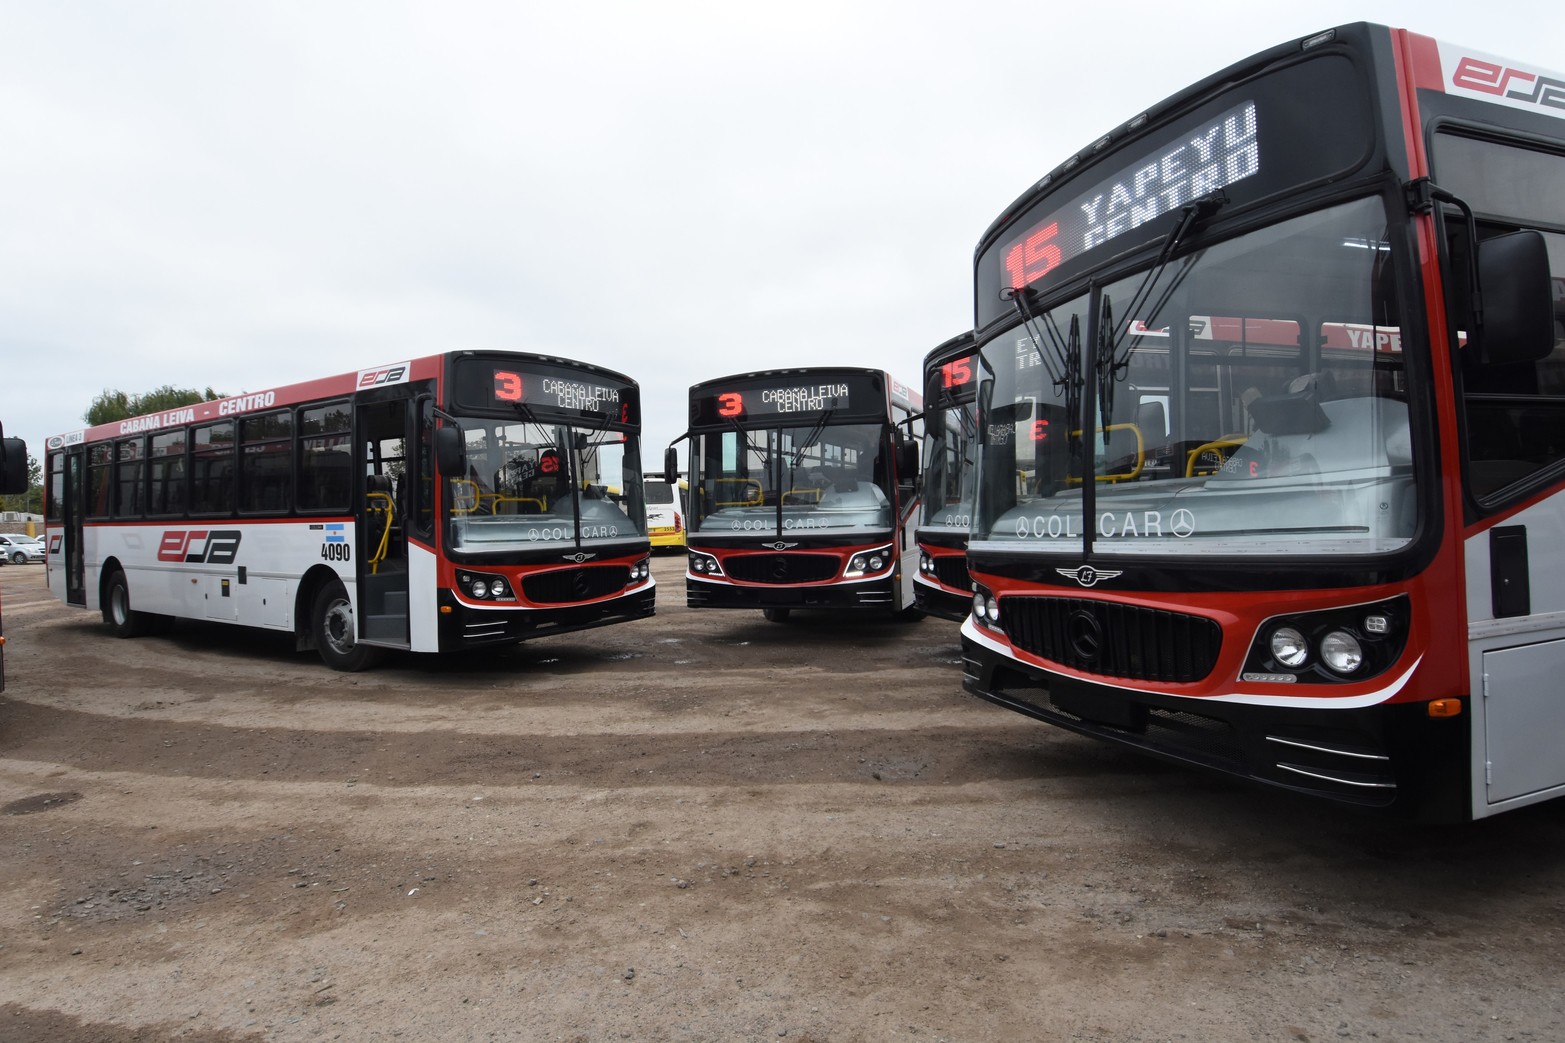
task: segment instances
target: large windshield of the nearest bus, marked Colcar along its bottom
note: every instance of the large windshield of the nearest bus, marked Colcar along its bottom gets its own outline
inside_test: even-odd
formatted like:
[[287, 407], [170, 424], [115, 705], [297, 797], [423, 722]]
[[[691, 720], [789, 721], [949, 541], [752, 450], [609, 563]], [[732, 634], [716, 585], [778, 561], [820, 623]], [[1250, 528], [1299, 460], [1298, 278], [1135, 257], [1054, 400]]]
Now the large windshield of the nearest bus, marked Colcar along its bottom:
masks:
[[973, 542], [1405, 545], [1418, 498], [1394, 262], [1380, 200], [1360, 199], [1055, 304], [1009, 291], [1017, 321], [983, 346]]

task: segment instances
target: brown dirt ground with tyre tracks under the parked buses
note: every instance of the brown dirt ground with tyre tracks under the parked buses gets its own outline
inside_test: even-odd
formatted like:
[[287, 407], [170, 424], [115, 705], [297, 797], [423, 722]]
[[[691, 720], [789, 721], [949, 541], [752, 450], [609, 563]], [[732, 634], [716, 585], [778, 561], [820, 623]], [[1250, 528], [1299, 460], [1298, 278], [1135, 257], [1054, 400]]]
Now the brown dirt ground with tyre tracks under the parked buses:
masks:
[[654, 572], [344, 675], [0, 568], [0, 1040], [1565, 1040], [1565, 802], [1360, 817]]

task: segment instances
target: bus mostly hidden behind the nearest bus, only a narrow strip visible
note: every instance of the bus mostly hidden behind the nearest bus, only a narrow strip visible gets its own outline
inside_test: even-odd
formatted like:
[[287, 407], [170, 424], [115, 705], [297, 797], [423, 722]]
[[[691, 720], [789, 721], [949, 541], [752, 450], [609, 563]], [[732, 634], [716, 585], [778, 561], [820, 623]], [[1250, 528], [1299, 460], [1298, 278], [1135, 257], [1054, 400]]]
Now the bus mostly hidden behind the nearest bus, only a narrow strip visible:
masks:
[[923, 357], [923, 496], [912, 597], [930, 615], [961, 622], [972, 608], [967, 529], [978, 484], [978, 366], [972, 332]]

